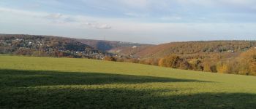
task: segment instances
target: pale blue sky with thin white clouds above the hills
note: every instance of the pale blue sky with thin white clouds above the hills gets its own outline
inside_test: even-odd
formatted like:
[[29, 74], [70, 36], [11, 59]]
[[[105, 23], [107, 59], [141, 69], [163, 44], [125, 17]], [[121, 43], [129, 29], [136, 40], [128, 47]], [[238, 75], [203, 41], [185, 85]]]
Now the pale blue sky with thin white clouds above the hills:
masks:
[[145, 44], [256, 40], [255, 0], [1, 0], [0, 33]]

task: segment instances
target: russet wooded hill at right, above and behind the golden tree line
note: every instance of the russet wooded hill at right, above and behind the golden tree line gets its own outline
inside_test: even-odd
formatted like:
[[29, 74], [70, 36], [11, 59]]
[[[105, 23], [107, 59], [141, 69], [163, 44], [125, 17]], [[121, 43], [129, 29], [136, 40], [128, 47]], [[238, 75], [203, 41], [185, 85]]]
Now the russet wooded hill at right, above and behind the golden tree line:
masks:
[[197, 53], [244, 52], [256, 47], [256, 41], [188, 41], [159, 44], [135, 52], [138, 57], [165, 57], [166, 55], [192, 55]]

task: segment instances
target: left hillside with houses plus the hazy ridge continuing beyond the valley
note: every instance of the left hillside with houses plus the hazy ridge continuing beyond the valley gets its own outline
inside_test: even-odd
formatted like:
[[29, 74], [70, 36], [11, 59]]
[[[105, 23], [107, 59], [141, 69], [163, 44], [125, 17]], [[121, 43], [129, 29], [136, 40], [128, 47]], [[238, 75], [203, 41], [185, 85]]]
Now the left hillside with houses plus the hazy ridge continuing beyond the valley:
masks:
[[111, 56], [112, 54], [129, 56], [146, 47], [153, 46], [151, 44], [137, 44], [123, 41], [72, 39], [59, 36], [24, 34], [0, 34], [1, 54], [39, 56], [40, 44], [42, 44], [41, 56], [97, 57], [99, 59], [102, 59], [102, 57], [105, 56]]

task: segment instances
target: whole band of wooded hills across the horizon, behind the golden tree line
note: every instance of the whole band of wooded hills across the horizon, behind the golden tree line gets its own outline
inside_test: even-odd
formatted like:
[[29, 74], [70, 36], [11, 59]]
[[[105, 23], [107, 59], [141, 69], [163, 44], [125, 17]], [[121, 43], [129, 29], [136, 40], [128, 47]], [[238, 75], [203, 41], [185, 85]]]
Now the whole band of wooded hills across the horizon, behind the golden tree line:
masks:
[[256, 47], [256, 41], [187, 41], [152, 45], [123, 41], [72, 39], [56, 36], [0, 34], [0, 53], [36, 55], [39, 49], [39, 43], [42, 44], [42, 55], [53, 55], [53, 52], [58, 51], [70, 55], [83, 54], [95, 57], [98, 54], [102, 55], [109, 52], [140, 58], [161, 58], [171, 54], [239, 53], [251, 47]]

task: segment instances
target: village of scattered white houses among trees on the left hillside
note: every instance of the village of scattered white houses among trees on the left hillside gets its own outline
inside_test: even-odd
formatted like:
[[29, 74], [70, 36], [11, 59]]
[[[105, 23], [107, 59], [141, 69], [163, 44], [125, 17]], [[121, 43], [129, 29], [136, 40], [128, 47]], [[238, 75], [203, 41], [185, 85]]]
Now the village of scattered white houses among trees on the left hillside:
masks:
[[[20, 55], [21, 52], [26, 51], [26, 55], [31, 52], [34, 56], [46, 57], [85, 57], [103, 60], [105, 56], [114, 56], [110, 53], [101, 52], [98, 49], [88, 47], [83, 44], [76, 44], [77, 42], [70, 42], [67, 44], [52, 44], [52, 41], [44, 41], [40, 39], [23, 39], [23, 38], [8, 38], [0, 40], [0, 51], [5, 53], [15, 53]], [[53, 46], [54, 45], [54, 46]], [[39, 53], [36, 53], [39, 52]], [[21, 54], [23, 55], [23, 54]]]

